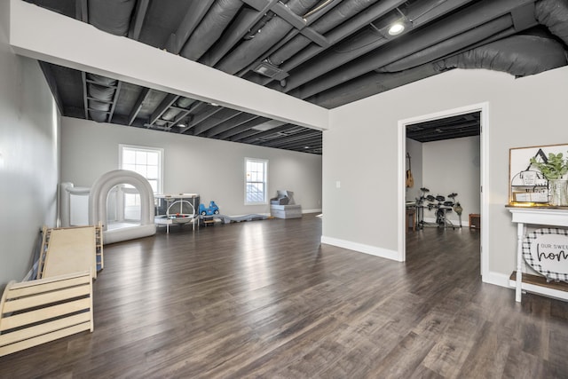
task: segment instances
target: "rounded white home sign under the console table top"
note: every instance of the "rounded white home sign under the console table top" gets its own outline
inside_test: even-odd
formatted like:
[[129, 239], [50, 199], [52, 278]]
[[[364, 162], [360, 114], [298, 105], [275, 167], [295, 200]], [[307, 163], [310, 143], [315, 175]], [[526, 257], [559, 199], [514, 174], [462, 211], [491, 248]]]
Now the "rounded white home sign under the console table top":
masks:
[[568, 282], [568, 229], [542, 228], [527, 233], [523, 257], [547, 280]]

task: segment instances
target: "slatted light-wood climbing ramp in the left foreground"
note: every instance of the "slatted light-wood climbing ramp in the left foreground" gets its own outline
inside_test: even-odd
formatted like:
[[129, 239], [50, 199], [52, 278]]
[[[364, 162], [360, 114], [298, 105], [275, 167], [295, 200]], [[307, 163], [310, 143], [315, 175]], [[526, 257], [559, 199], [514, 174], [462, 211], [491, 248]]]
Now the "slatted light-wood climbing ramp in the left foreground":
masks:
[[0, 357], [93, 330], [91, 271], [16, 283], [0, 301]]

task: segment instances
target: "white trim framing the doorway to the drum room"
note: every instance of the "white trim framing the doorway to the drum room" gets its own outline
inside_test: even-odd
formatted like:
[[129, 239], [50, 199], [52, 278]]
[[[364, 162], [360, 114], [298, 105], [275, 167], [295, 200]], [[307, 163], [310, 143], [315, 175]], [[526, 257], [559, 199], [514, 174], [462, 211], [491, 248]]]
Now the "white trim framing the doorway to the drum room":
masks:
[[[471, 112], [481, 112], [481, 143], [480, 143], [480, 166], [481, 166], [481, 187], [489, 188], [489, 103], [472, 104], [465, 107], [447, 109], [432, 114], [422, 114], [398, 121], [398, 261], [406, 260], [406, 237], [405, 237], [405, 211], [406, 211], [406, 192], [405, 192], [405, 159], [406, 159], [406, 125], [416, 122], [427, 122], [439, 118], [451, 117], [457, 114], [468, 114]], [[487, 191], [481, 193], [481, 276], [489, 277], [489, 198]], [[489, 279], [487, 279], [489, 280]]]

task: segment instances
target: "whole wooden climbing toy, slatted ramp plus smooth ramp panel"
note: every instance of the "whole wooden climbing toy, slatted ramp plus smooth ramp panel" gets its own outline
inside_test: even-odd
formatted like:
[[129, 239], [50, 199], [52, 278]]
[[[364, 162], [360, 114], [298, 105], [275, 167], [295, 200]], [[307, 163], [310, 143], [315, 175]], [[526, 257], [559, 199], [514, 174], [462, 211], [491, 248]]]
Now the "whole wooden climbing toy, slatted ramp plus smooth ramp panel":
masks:
[[43, 227], [37, 279], [4, 288], [0, 356], [92, 332], [92, 280], [103, 268], [102, 246], [101, 225]]

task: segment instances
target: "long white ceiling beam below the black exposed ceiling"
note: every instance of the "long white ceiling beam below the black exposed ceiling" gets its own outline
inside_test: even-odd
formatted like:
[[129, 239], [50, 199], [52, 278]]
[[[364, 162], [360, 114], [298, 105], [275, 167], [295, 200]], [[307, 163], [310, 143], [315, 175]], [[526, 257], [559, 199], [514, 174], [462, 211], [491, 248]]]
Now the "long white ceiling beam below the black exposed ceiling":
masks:
[[10, 1], [10, 44], [17, 54], [282, 122], [327, 129], [326, 108], [102, 32], [35, 4]]

